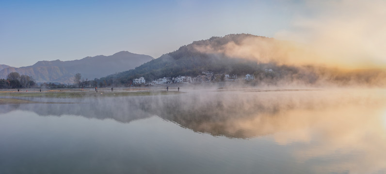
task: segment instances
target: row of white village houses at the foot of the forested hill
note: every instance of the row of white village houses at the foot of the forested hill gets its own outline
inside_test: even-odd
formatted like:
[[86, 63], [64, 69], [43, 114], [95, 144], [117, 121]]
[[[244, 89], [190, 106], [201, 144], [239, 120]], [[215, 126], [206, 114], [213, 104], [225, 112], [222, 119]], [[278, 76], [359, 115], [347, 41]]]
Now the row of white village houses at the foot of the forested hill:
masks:
[[[157, 80], [153, 80], [149, 84], [179, 84], [179, 83], [203, 83], [210, 81], [237, 81], [244, 79], [246, 81], [254, 80], [255, 76], [253, 74], [246, 74], [245, 78], [237, 78], [236, 74], [213, 74], [213, 72], [202, 72], [202, 75], [198, 75], [196, 77], [190, 76], [177, 76], [177, 77], [163, 77]], [[133, 80], [134, 85], [145, 84], [145, 78], [140, 77], [138, 79]]]

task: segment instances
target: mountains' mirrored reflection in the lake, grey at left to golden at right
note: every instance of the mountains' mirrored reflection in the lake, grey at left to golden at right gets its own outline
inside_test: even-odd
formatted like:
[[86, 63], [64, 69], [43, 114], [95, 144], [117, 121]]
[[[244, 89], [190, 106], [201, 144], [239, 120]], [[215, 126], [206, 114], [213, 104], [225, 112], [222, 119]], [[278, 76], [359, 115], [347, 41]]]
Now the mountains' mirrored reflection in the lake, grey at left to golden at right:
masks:
[[334, 111], [352, 109], [353, 105], [376, 107], [384, 102], [382, 96], [371, 102], [360, 102], [361, 95], [327, 91], [191, 92], [171, 96], [88, 98], [73, 101], [80, 102], [75, 104], [0, 107], [1, 111], [20, 109], [41, 116], [77, 115], [124, 123], [157, 115], [197, 132], [251, 138], [302, 129], [315, 124], [313, 120], [330, 119], [338, 115]]

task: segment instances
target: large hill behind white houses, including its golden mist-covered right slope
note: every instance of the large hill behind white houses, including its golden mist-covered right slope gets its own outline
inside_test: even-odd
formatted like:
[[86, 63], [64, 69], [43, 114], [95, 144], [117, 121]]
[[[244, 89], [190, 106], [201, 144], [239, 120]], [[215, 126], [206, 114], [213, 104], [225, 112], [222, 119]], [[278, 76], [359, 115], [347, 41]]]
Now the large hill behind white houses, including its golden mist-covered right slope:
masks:
[[141, 76], [151, 81], [211, 71], [237, 74], [238, 77], [254, 74], [255, 84], [276, 86], [386, 86], [386, 70], [320, 67], [312, 64], [318, 58], [295, 43], [251, 34], [230, 34], [181, 46], [133, 70], [103, 77], [99, 82], [128, 85], [132, 79]]

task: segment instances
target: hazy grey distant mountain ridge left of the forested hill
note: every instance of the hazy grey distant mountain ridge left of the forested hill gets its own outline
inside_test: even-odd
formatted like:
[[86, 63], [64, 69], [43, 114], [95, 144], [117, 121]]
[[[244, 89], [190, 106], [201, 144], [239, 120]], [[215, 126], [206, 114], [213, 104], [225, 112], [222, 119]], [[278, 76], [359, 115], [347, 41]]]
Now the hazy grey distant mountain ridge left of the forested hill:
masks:
[[[38, 61], [32, 66], [5, 67], [0, 71], [0, 78], [6, 78], [9, 73], [17, 72], [30, 75], [37, 82], [71, 83], [76, 73], [81, 73], [84, 79], [92, 80], [109, 74], [133, 69], [152, 60], [151, 56], [121, 51], [111, 56], [86, 57], [80, 60]], [[1, 67], [0, 67], [1, 68]]]

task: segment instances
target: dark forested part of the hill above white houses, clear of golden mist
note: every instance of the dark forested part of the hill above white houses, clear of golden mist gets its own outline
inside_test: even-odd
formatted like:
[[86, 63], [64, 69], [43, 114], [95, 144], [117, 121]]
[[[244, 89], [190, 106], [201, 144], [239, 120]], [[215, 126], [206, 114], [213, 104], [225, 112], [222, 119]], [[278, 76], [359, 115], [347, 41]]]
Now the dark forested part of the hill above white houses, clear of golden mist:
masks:
[[[141, 76], [149, 81], [178, 75], [197, 76], [203, 71], [229, 74], [254, 73], [257, 69], [257, 60], [230, 57], [223, 52], [213, 51], [224, 48], [228, 43], [240, 44], [245, 38], [249, 37], [273, 40], [250, 34], [211, 37], [208, 40], [195, 41], [189, 45], [181, 46], [178, 50], [164, 54], [160, 58], [151, 60], [133, 70], [109, 75], [100, 80], [127, 84], [130, 80]], [[211, 50], [209, 52], [198, 49], [207, 46], [210, 46]]]

